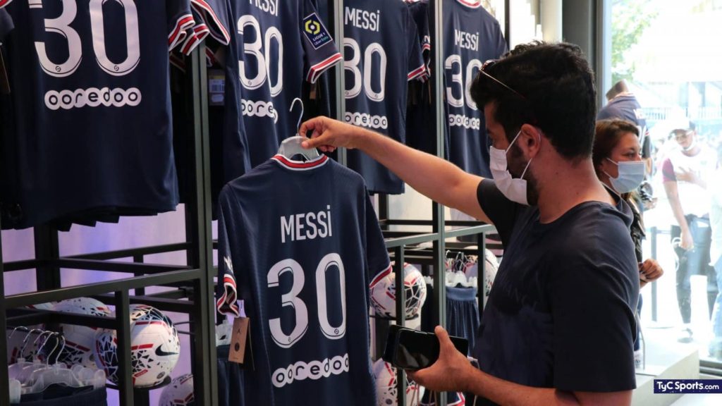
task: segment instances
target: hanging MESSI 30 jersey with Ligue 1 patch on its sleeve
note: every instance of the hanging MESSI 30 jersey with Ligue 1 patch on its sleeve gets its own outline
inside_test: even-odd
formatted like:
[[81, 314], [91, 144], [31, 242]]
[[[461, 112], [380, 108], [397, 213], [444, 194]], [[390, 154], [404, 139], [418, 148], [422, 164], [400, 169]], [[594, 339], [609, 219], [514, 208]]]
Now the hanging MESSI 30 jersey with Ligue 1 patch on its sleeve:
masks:
[[[223, 164], [226, 181], [264, 163], [297, 130], [289, 112], [303, 82], [342, 61], [311, 0], [193, 0], [230, 35], [225, 60]], [[225, 14], [226, 20], [221, 20]], [[215, 36], [215, 35], [214, 35]]]

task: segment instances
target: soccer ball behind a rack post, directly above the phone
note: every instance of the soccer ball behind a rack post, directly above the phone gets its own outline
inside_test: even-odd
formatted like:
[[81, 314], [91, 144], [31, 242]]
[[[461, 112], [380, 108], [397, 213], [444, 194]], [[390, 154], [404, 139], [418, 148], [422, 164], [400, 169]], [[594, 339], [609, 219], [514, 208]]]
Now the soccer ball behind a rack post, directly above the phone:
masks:
[[[426, 301], [426, 282], [419, 269], [404, 264], [406, 318], [417, 316]], [[371, 288], [371, 304], [377, 316], [396, 317], [396, 272], [390, 272]]]

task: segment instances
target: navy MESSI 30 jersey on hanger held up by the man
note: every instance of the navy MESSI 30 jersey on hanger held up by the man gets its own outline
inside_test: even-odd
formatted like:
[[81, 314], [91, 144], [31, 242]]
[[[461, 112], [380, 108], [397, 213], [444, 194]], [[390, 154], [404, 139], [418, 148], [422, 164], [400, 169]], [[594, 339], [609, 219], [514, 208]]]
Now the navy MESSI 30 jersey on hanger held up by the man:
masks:
[[375, 405], [369, 286], [391, 272], [363, 179], [281, 155], [219, 196], [217, 308], [251, 320], [246, 405]]

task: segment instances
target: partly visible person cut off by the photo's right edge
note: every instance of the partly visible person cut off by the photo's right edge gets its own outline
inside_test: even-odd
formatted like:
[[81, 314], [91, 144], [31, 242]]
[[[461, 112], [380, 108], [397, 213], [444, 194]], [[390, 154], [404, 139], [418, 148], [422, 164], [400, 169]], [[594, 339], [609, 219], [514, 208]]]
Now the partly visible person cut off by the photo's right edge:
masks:
[[722, 142], [717, 146], [717, 168], [712, 176], [716, 182], [710, 182], [710, 227], [712, 228], [712, 244], [710, 247], [710, 264], [715, 268], [717, 277], [717, 298], [712, 316], [714, 337], [710, 342], [710, 356], [722, 359]]

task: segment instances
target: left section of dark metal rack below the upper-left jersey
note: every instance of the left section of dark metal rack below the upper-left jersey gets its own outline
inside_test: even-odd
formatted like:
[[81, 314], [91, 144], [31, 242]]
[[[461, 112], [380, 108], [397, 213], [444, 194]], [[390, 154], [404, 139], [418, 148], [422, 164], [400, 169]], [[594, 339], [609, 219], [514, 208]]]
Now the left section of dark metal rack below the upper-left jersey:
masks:
[[[190, 74], [186, 88], [193, 100], [193, 138], [188, 141], [192, 152], [190, 170], [193, 193], [186, 202], [186, 240], [183, 243], [123, 249], [92, 254], [61, 256], [58, 231], [43, 225], [34, 229], [35, 258], [17, 262], [1, 262], [0, 272], [35, 269], [37, 291], [4, 295], [4, 278], [0, 278], [0, 330], [7, 327], [41, 323], [69, 323], [88, 327], [116, 329], [118, 332], [118, 385], [121, 405], [149, 405], [149, 389], [132, 386], [130, 350], [130, 303], [147, 303], [161, 311], [188, 314], [191, 335], [191, 368], [194, 396], [200, 405], [217, 405], [215, 396], [216, 351], [214, 348], [213, 296], [215, 275], [212, 263], [212, 229], [210, 199], [209, 135], [205, 47], [201, 44], [191, 55]], [[2, 241], [0, 238], [0, 249]], [[150, 254], [186, 252], [184, 265], [148, 264]], [[133, 262], [117, 259], [129, 258]], [[129, 277], [89, 285], [64, 288], [61, 268], [87, 269], [102, 272], [124, 272]], [[173, 287], [168, 292], [147, 295], [150, 286]], [[131, 294], [131, 290], [133, 293]], [[115, 317], [80, 316], [56, 311], [22, 308], [50, 301], [90, 296], [116, 306]], [[1, 334], [0, 347], [6, 348], [6, 333]], [[7, 365], [6, 351], [0, 351], [0, 363]], [[213, 366], [213, 368], [212, 368]], [[0, 382], [8, 379], [7, 368], [0, 368]], [[167, 382], [166, 382], [167, 383]], [[9, 405], [7, 385], [0, 385], [0, 405]], [[113, 386], [109, 386], [113, 387]]]

